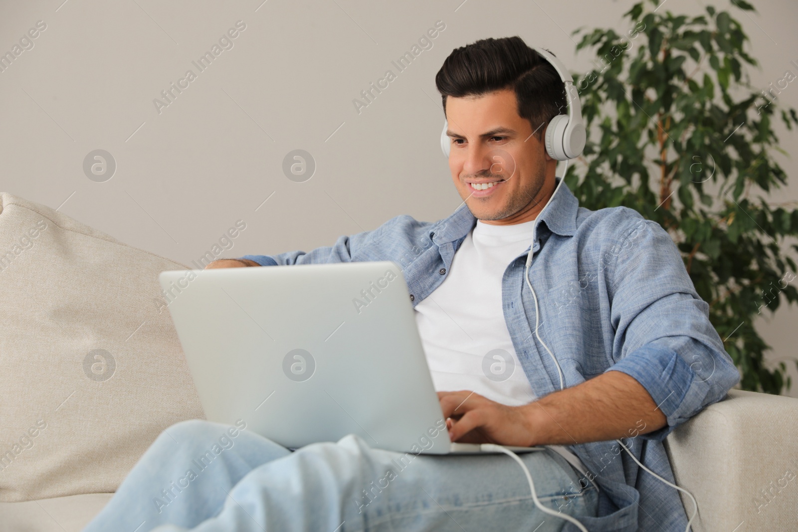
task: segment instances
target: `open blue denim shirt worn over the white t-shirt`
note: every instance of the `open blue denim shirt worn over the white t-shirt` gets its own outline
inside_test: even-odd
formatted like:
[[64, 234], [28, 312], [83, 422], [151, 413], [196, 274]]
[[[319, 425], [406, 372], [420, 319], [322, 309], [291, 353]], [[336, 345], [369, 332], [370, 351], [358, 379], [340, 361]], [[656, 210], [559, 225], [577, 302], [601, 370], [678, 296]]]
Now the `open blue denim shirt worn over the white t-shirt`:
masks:
[[[622, 442], [673, 483], [662, 440], [721, 400], [739, 373], [666, 231], [626, 207], [579, 207], [564, 183], [559, 188], [539, 215], [533, 237], [529, 279], [539, 302], [539, 335], [557, 357], [566, 387], [614, 370], [646, 388], [667, 425], [638, 435], [642, 423], [636, 424]], [[334, 246], [310, 253], [243, 258], [262, 266], [391, 260], [401, 265], [415, 306], [443, 282], [475, 224], [463, 204], [434, 223], [400, 215], [374, 231], [342, 236]], [[523, 280], [527, 251], [504, 270], [502, 300], [521, 366], [540, 397], [559, 389], [559, 373], [533, 334], [535, 303]], [[580, 519], [588, 530], [685, 530], [687, 516], [678, 492], [638, 467], [618, 443], [568, 448], [601, 488], [598, 517]], [[566, 523], [563, 530], [577, 529]]]

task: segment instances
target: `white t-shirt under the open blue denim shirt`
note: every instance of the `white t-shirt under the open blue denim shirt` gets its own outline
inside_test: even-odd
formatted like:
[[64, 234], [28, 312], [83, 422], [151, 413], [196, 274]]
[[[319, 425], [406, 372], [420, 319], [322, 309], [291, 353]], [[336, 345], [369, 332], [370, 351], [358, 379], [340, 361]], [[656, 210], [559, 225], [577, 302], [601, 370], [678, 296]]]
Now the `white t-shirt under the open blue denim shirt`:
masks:
[[[535, 220], [509, 226], [477, 220], [444, 282], [416, 305], [436, 391], [471, 390], [510, 406], [535, 400], [502, 309], [504, 270], [530, 246], [534, 226]], [[549, 447], [583, 467], [565, 447]]]

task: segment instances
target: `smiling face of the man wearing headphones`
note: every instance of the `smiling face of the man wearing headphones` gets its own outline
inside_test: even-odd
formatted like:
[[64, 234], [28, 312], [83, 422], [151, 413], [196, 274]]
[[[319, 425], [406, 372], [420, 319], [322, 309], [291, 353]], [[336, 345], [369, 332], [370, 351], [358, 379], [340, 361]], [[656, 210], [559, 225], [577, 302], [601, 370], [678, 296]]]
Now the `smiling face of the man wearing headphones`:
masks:
[[[532, 135], [529, 120], [518, 115], [512, 89], [448, 97], [446, 118], [449, 170], [472, 215], [493, 225], [535, 219], [554, 191], [557, 161]], [[535, 128], [545, 133], [546, 125]], [[480, 190], [484, 183], [489, 187]]]

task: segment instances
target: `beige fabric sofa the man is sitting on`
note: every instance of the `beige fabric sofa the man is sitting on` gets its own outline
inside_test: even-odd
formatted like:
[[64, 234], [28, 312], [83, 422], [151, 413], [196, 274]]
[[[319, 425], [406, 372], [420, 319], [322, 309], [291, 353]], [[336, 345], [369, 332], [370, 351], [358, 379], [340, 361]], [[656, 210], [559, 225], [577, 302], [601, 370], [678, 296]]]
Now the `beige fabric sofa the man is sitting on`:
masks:
[[[0, 531], [81, 530], [203, 417], [156, 281], [187, 267], [0, 193]], [[732, 391], [666, 445], [696, 532], [798, 530], [798, 400]]]

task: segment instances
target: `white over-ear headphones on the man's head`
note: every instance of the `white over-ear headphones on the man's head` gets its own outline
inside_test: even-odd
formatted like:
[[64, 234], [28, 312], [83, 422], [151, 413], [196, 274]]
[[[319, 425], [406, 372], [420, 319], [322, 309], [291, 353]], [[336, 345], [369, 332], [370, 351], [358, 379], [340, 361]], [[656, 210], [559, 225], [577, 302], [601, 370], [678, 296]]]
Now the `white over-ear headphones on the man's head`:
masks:
[[[568, 73], [563, 62], [542, 48], [533, 48], [541, 57], [553, 66], [565, 84], [567, 97], [567, 115], [557, 115], [549, 121], [546, 128], [546, 151], [555, 160], [569, 160], [579, 156], [585, 148], [585, 124], [582, 120], [582, 105], [579, 104], [579, 93], [574, 86], [574, 78]], [[448, 122], [444, 120], [444, 129], [440, 132], [440, 149], [448, 158], [452, 140], [446, 136]]]

